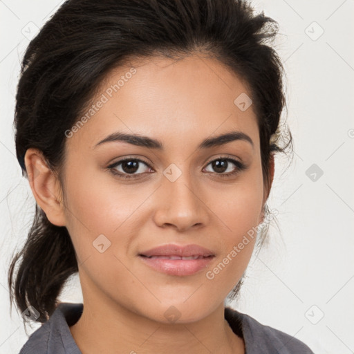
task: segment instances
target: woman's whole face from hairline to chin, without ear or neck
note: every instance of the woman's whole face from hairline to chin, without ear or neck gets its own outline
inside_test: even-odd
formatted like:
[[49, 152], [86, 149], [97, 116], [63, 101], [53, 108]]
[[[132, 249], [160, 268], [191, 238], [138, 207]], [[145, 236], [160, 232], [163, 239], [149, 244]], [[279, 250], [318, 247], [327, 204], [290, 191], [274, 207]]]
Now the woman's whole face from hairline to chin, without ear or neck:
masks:
[[[66, 132], [63, 171], [85, 304], [159, 322], [196, 321], [223, 304], [248, 265], [255, 235], [244, 236], [267, 196], [246, 95], [229, 69], [196, 55], [145, 59], [102, 82], [86, 119]], [[102, 142], [112, 134], [140, 138]], [[187, 245], [209, 253], [178, 249]], [[183, 254], [199, 259], [171, 259]]]

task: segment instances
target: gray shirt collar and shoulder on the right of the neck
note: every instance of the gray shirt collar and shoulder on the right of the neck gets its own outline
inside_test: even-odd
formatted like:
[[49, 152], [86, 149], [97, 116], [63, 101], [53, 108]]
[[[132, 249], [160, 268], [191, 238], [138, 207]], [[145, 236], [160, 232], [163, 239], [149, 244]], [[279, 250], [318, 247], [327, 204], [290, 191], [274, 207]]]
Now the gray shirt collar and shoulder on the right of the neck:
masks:
[[287, 333], [265, 326], [253, 317], [239, 313], [230, 307], [225, 308], [225, 319], [236, 331], [242, 333], [248, 354], [314, 354], [310, 348], [299, 339]]

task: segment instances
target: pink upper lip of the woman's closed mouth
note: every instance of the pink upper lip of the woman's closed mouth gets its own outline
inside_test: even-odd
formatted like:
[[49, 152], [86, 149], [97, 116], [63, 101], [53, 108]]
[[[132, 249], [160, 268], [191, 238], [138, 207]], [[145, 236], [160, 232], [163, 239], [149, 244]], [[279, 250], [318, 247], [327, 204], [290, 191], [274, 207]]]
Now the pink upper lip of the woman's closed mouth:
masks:
[[169, 243], [168, 245], [160, 245], [156, 248], [151, 248], [141, 252], [140, 255], [146, 257], [153, 256], [179, 256], [179, 257], [192, 257], [192, 256], [203, 256], [209, 257], [214, 256], [214, 253], [207, 248], [199, 245], [174, 245]]

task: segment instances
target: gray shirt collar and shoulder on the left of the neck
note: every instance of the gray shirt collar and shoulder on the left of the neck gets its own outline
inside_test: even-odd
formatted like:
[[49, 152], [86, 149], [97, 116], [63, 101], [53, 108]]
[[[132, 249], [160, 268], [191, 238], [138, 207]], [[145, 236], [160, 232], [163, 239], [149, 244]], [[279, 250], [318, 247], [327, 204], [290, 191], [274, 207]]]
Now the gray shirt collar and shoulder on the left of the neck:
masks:
[[81, 354], [69, 329], [81, 313], [82, 304], [59, 304], [50, 319], [30, 335], [19, 354]]

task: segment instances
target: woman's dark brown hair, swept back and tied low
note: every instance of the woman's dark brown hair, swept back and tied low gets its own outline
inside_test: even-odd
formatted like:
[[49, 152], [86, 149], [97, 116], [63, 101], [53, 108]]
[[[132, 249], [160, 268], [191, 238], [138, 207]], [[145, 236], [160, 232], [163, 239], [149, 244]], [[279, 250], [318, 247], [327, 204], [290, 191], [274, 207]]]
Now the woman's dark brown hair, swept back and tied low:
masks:
[[[21, 65], [14, 125], [22, 175], [28, 177], [24, 156], [30, 147], [42, 151], [59, 174], [65, 162], [64, 132], [80, 119], [113, 68], [134, 57], [181, 58], [203, 52], [250, 88], [268, 185], [272, 153], [284, 152], [292, 140], [280, 124], [283, 68], [267, 44], [278, 29], [276, 21], [263, 12], [255, 14], [245, 1], [65, 1], [30, 41]], [[65, 281], [77, 270], [68, 230], [51, 224], [36, 205], [24, 248], [10, 265], [11, 302], [15, 299], [21, 311], [34, 306], [40, 313], [37, 321], [45, 322]]]

